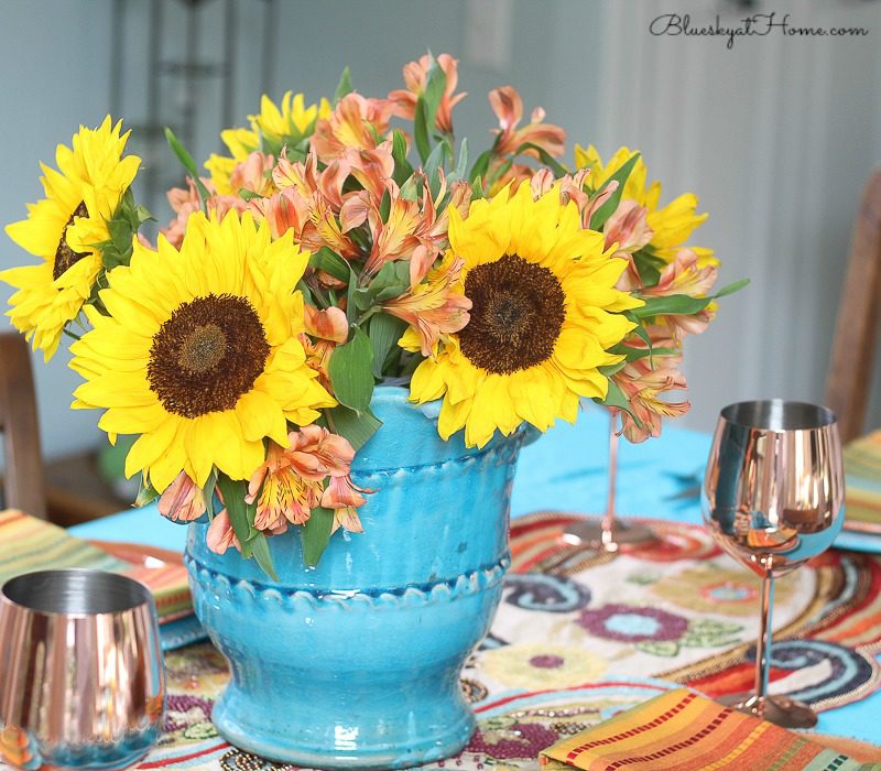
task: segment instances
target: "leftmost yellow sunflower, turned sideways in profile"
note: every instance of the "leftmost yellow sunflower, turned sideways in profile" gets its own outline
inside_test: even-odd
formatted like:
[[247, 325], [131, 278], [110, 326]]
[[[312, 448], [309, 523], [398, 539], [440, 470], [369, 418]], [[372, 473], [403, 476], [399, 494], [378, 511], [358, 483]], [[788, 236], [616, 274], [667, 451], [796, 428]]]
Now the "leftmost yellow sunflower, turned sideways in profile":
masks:
[[80, 127], [73, 149], [59, 144], [58, 171], [41, 164], [46, 197], [29, 205], [28, 219], [6, 228], [15, 243], [43, 258], [0, 272], [0, 280], [19, 290], [7, 315], [46, 360], [91, 293], [101, 269], [95, 245], [108, 240], [107, 220], [141, 164], [137, 155], [122, 158], [129, 132], [120, 135], [121, 124], [112, 126], [108, 116], [97, 129]]

